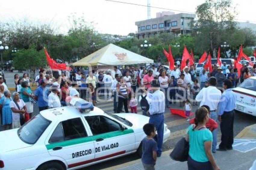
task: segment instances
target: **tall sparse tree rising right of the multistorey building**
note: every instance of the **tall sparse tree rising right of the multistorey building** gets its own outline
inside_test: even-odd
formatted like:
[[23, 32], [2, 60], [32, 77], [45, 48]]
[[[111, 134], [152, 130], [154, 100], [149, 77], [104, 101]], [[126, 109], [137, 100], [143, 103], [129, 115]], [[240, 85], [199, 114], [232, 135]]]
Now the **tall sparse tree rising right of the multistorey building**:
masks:
[[231, 3], [231, 0], [206, 0], [197, 6], [198, 23], [194, 28], [197, 51], [211, 50], [216, 57], [217, 47], [226, 41], [223, 34], [236, 27], [233, 21], [237, 13]]

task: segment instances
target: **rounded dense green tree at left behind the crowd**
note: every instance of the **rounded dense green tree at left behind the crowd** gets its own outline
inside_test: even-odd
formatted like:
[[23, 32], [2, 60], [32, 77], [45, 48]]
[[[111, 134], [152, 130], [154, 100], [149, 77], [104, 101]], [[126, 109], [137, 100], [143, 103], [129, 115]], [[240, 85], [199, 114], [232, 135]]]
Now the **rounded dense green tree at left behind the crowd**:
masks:
[[46, 57], [43, 50], [37, 51], [35, 47], [30, 46], [29, 49], [19, 50], [14, 54], [13, 65], [15, 69], [35, 70], [44, 67]]

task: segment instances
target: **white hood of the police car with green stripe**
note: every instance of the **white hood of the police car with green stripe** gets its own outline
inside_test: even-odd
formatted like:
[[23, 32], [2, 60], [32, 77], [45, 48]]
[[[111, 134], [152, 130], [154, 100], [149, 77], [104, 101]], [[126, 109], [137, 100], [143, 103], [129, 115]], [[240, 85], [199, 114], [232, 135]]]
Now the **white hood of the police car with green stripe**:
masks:
[[133, 123], [132, 127], [143, 127], [146, 123], [148, 123], [149, 117], [143, 116], [141, 114], [134, 114], [134, 113], [119, 113], [118, 116], [129, 120]]

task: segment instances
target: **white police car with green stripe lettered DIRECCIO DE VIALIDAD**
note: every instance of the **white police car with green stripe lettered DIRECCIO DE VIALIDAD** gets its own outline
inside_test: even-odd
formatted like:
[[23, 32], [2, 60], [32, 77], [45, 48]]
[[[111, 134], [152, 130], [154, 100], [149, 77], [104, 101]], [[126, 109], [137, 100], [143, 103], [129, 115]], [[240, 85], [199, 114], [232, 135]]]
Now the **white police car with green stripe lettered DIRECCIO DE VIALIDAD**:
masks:
[[[0, 169], [78, 169], [141, 153], [148, 117], [104, 113], [79, 98], [70, 103], [74, 106], [41, 111], [20, 129], [0, 132]], [[164, 125], [164, 141], [169, 136]]]

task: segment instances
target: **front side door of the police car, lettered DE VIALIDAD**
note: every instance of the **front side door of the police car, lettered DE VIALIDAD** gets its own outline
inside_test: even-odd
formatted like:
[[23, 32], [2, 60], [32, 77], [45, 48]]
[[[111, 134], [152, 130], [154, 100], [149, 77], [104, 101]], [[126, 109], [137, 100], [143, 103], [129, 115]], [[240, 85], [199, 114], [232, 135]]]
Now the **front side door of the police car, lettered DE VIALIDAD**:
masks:
[[135, 149], [133, 129], [105, 116], [85, 117], [92, 131], [95, 145], [95, 161], [128, 153]]

